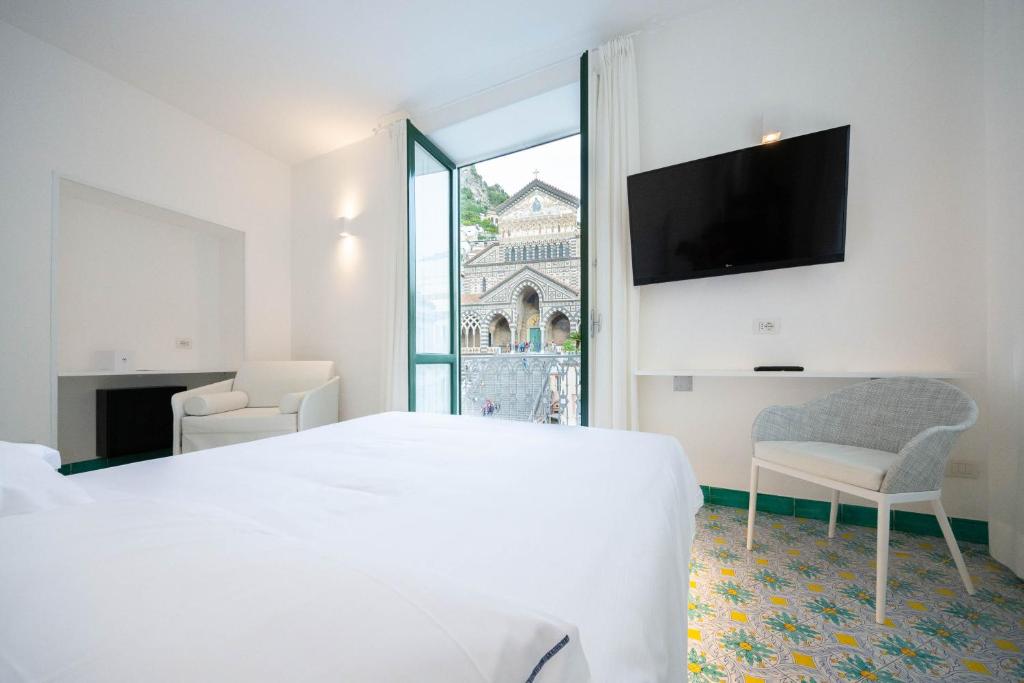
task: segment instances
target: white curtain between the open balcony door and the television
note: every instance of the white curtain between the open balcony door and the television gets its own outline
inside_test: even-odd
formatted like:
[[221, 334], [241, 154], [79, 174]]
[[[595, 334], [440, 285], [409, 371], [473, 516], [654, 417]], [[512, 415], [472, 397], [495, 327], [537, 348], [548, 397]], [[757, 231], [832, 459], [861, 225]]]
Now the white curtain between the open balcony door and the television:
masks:
[[639, 154], [633, 37], [591, 50], [588, 63], [591, 305], [600, 322], [591, 340], [591, 417], [597, 427], [637, 429], [638, 303], [626, 203]]

